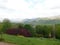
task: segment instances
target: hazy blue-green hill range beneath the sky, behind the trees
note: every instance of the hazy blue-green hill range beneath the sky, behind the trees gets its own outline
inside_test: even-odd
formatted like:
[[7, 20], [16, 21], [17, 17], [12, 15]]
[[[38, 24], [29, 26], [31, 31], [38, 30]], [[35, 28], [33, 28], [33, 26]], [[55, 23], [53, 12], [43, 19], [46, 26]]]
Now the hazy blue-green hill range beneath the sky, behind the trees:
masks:
[[35, 18], [25, 19], [24, 24], [40, 25], [40, 24], [60, 24], [60, 16], [46, 17], [46, 18]]

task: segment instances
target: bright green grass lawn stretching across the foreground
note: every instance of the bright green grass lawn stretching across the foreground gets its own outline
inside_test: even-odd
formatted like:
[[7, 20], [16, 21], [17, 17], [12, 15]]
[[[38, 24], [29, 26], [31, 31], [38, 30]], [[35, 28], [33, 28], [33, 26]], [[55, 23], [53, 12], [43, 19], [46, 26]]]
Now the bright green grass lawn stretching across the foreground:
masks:
[[11, 35], [3, 35], [5, 42], [16, 43], [17, 45], [60, 45], [57, 39], [26, 38]]

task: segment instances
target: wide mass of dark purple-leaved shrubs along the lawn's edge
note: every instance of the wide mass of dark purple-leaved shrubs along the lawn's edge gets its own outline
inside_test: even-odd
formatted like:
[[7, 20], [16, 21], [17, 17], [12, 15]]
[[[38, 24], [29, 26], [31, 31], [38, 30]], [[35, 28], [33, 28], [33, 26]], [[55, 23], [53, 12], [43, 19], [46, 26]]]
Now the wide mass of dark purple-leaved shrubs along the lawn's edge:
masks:
[[16, 29], [16, 28], [12, 28], [12, 29], [8, 29], [6, 31], [7, 34], [10, 34], [10, 35], [23, 35], [25, 37], [31, 37], [31, 34], [28, 30], [22, 28], [22, 29]]

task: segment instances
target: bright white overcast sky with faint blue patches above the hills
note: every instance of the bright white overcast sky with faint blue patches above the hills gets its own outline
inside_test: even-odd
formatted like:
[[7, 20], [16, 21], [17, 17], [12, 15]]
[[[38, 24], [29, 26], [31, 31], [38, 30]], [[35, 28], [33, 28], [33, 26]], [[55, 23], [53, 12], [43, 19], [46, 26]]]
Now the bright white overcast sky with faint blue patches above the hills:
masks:
[[0, 20], [60, 15], [60, 0], [0, 0]]

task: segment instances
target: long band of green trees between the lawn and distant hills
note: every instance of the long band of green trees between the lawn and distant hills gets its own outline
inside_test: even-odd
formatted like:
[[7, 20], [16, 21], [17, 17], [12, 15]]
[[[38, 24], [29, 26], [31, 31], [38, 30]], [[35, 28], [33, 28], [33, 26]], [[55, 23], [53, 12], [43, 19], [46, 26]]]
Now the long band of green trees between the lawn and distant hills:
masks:
[[[23, 33], [29, 31], [31, 37], [43, 37], [43, 38], [57, 38], [60, 39], [60, 24], [53, 25], [36, 25], [12, 23], [8, 19], [4, 19], [0, 23], [0, 33], [6, 33], [8, 29], [23, 29]], [[26, 29], [26, 30], [24, 30]], [[20, 31], [21, 33], [21, 31]]]

